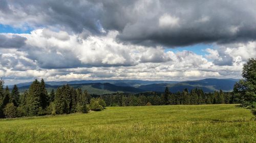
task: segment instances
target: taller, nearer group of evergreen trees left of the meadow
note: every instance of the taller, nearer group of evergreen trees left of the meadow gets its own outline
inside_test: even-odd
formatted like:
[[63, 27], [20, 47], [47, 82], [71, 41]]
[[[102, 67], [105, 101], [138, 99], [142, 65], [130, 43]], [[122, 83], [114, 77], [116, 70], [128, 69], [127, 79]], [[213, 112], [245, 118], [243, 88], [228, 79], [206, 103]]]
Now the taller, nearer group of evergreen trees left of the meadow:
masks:
[[91, 98], [87, 91], [74, 89], [68, 84], [48, 94], [44, 79], [32, 82], [28, 91], [19, 94], [14, 85], [12, 91], [4, 89], [0, 80], [0, 118], [87, 113], [89, 110], [103, 110], [105, 103], [100, 98]]

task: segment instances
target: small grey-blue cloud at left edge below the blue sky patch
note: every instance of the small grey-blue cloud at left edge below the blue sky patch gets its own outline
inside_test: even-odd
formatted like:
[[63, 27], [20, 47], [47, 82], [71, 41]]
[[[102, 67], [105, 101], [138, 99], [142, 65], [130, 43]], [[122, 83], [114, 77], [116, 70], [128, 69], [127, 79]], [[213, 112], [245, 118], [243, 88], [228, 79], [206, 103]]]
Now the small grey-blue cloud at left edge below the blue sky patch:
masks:
[[11, 38], [0, 35], [0, 48], [20, 48], [25, 45], [27, 38], [13, 35]]

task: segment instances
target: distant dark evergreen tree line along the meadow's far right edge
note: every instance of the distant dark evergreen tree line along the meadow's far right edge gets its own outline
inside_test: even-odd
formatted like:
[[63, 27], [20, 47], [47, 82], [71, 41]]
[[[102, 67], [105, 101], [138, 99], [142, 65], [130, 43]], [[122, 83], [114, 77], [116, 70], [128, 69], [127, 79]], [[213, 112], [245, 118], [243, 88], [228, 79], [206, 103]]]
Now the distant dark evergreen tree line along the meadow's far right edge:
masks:
[[214, 93], [204, 93], [201, 89], [193, 89], [188, 92], [184, 89], [182, 92], [171, 93], [166, 87], [163, 94], [152, 92], [139, 95], [133, 94], [108, 94], [100, 96], [106, 106], [144, 106], [144, 105], [197, 105], [197, 104], [232, 104], [239, 103], [238, 97], [232, 92], [223, 92], [222, 90]]

